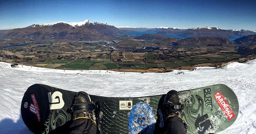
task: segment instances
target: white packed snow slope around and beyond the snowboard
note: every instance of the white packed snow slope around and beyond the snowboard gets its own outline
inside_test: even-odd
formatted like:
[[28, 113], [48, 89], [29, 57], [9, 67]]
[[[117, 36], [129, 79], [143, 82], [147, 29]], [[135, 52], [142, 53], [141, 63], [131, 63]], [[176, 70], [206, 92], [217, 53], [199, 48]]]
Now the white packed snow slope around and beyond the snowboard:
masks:
[[198, 67], [168, 73], [113, 72], [106, 70], [54, 70], [0, 62], [0, 133], [30, 134], [20, 115], [24, 92], [41, 83], [72, 91], [112, 97], [149, 96], [169, 90], [189, 90], [226, 84], [238, 96], [237, 120], [220, 134], [256, 132], [256, 60], [230, 63], [224, 68]]

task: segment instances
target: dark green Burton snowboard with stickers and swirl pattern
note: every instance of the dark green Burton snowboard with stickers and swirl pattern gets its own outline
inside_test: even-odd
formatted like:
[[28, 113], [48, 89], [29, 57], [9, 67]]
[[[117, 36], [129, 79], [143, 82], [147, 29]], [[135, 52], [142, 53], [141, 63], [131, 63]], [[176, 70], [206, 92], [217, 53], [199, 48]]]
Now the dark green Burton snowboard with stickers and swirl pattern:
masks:
[[[24, 93], [22, 119], [37, 134], [67, 126], [72, 122], [70, 106], [75, 95], [76, 92], [34, 84]], [[224, 84], [180, 91], [178, 96], [184, 104], [182, 118], [188, 126], [187, 134], [220, 132], [238, 117], [236, 94]], [[162, 133], [164, 97], [165, 94], [134, 98], [90, 95], [96, 105], [94, 120], [103, 134]]]

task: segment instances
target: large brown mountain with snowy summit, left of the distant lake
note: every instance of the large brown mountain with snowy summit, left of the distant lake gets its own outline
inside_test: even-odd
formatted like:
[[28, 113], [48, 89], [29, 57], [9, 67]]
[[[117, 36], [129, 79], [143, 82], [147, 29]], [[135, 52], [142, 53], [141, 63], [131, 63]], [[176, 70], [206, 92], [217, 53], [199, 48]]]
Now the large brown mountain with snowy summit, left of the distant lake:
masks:
[[32, 24], [5, 32], [2, 38], [23, 38], [39, 40], [112, 40], [114, 35], [122, 34], [113, 25], [100, 22], [52, 22]]

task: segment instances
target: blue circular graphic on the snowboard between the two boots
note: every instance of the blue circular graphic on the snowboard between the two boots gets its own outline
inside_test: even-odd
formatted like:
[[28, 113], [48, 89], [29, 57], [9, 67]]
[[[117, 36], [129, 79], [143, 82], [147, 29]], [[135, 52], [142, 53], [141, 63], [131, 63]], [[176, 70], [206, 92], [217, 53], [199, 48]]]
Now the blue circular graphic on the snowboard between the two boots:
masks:
[[131, 134], [152, 134], [155, 130], [155, 117], [152, 109], [144, 102], [133, 106], [129, 115]]

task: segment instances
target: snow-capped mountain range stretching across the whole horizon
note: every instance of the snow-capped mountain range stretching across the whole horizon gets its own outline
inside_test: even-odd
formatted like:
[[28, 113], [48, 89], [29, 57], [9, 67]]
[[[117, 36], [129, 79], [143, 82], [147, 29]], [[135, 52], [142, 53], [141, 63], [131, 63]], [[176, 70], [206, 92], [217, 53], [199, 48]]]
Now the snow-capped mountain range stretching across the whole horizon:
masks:
[[125, 35], [131, 32], [155, 32], [162, 35], [174, 35], [187, 38], [198, 36], [218, 36], [225, 38], [240, 38], [256, 34], [250, 30], [227, 30], [217, 27], [197, 28], [129, 28], [116, 27], [106, 23], [89, 22], [52, 22], [32, 24], [26, 28], [13, 30], [0, 30], [0, 39], [24, 38], [34, 40], [113, 40], [117, 35]]

